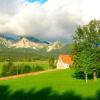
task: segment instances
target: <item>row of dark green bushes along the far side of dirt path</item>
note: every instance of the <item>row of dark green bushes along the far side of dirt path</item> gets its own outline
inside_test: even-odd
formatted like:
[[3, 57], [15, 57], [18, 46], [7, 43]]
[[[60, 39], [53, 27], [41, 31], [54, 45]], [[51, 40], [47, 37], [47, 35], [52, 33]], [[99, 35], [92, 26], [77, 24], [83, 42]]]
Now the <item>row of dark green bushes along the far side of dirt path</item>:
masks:
[[27, 65], [27, 64], [18, 64], [15, 65], [13, 62], [8, 61], [2, 67], [2, 72], [0, 76], [11, 76], [11, 75], [19, 75], [29, 72], [37, 72], [44, 70], [40, 65]]

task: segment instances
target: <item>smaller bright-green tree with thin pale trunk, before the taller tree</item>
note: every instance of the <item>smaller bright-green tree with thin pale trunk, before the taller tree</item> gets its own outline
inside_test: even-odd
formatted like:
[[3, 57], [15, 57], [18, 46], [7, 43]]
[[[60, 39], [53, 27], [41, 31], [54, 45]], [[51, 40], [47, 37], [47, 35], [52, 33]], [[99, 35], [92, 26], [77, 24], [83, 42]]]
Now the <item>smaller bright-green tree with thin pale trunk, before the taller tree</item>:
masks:
[[89, 69], [92, 65], [92, 56], [89, 51], [82, 50], [76, 55], [74, 62], [77, 64], [78, 71], [84, 73], [84, 78], [87, 83], [88, 74], [91, 72]]

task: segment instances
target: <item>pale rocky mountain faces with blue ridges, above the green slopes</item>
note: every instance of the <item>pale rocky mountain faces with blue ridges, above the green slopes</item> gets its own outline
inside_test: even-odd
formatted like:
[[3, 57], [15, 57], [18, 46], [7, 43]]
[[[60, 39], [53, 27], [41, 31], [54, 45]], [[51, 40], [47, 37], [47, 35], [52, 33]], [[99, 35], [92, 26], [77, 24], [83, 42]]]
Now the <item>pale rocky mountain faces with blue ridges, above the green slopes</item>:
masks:
[[63, 47], [63, 43], [60, 41], [52, 43], [31, 36], [18, 36], [11, 34], [0, 34], [0, 44], [8, 48], [31, 48], [34, 50], [46, 48], [47, 52]]

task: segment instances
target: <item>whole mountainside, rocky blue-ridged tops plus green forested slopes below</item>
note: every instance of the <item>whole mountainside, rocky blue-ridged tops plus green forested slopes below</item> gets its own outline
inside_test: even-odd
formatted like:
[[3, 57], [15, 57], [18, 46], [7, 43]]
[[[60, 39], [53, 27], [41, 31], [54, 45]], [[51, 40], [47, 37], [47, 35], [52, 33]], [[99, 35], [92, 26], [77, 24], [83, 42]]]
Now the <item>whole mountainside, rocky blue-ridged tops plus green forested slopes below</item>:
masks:
[[[34, 37], [0, 35], [0, 61], [48, 60], [59, 54], [70, 54], [72, 44], [65, 45], [60, 41], [47, 42]], [[13, 38], [13, 39], [12, 39]]]

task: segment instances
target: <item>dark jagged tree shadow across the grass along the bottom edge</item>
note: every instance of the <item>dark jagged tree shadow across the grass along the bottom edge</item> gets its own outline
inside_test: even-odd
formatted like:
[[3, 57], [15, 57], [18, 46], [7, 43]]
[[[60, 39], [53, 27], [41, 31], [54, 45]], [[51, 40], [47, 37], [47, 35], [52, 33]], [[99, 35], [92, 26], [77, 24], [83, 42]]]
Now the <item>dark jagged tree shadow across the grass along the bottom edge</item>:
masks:
[[100, 91], [97, 92], [95, 98], [82, 98], [82, 96], [75, 94], [75, 92], [65, 92], [59, 94], [52, 91], [50, 87], [44, 88], [38, 92], [31, 89], [28, 92], [18, 90], [10, 94], [8, 86], [0, 86], [0, 100], [100, 100]]

